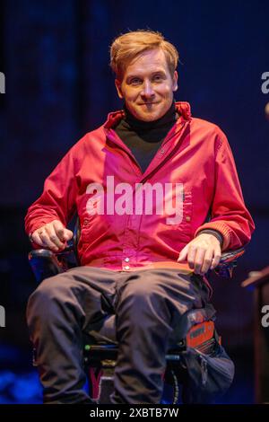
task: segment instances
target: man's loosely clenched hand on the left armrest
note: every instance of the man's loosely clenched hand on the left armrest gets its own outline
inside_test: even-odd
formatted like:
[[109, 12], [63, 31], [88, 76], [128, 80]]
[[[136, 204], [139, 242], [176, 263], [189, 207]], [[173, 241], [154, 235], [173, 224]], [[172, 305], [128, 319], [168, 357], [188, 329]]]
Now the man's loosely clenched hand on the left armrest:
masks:
[[30, 235], [30, 241], [35, 242], [43, 248], [51, 251], [61, 251], [65, 249], [66, 242], [73, 238], [73, 232], [65, 229], [59, 220], [42, 225]]

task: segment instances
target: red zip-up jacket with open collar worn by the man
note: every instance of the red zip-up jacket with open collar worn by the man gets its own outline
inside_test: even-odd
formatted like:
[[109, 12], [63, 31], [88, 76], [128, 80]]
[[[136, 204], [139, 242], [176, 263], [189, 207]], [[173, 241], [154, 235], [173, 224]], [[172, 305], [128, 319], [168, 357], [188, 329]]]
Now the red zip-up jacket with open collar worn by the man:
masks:
[[[181, 116], [143, 174], [113, 130], [124, 111], [109, 113], [105, 124], [83, 136], [48, 176], [42, 195], [25, 217], [26, 232], [30, 234], [55, 219], [66, 225], [77, 210], [82, 228], [78, 245], [81, 264], [114, 270], [176, 262], [187, 242], [204, 228], [222, 234], [222, 251], [247, 244], [255, 225], [244, 204], [226, 136], [212, 123], [192, 118], [187, 102], [176, 102], [176, 107]], [[115, 186], [128, 183], [133, 189], [126, 197], [128, 207], [133, 200], [129, 214], [113, 214], [107, 207], [100, 214], [102, 208], [98, 207], [111, 199], [108, 176], [114, 176]], [[91, 183], [103, 187], [104, 202], [96, 199]], [[135, 213], [136, 183], [159, 183], [159, 187], [183, 184], [182, 221], [169, 221], [167, 210], [160, 215], [155, 207], [152, 213]], [[171, 191], [175, 201], [175, 189]], [[113, 201], [120, 196], [116, 193]], [[99, 213], [91, 212], [94, 207]]]

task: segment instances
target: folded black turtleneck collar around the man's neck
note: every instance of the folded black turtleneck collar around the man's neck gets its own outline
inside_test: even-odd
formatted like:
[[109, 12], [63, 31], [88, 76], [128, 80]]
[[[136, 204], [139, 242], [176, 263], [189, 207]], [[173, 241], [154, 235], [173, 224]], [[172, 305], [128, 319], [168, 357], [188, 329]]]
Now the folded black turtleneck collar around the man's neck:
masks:
[[177, 120], [176, 105], [174, 100], [172, 101], [169, 110], [167, 110], [167, 112], [160, 119], [153, 121], [143, 121], [136, 119], [134, 115], [126, 108], [126, 103], [124, 103], [123, 110], [125, 111], [124, 120], [126, 124], [134, 130], [150, 130], [153, 128], [166, 127]]

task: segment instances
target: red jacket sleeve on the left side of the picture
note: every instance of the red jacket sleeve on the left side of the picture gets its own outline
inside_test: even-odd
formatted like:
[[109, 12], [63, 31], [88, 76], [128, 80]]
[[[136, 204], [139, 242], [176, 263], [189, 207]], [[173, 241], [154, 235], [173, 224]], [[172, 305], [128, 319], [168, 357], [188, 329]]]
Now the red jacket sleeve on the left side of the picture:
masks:
[[28, 208], [25, 231], [29, 235], [44, 224], [60, 220], [65, 226], [75, 212], [76, 181], [73, 148], [44, 183], [41, 196]]

